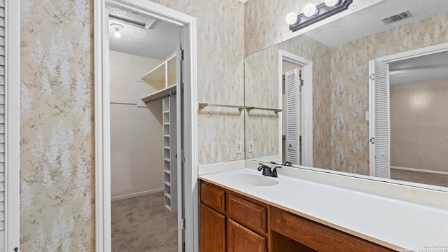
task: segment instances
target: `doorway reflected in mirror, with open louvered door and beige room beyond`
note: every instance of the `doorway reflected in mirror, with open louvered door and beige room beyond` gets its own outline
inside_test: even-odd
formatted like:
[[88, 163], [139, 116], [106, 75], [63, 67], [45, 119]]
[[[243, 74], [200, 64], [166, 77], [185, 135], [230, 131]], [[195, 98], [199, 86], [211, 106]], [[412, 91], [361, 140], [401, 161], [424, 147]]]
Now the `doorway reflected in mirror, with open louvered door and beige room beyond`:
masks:
[[448, 186], [447, 52], [442, 43], [370, 62], [372, 176]]

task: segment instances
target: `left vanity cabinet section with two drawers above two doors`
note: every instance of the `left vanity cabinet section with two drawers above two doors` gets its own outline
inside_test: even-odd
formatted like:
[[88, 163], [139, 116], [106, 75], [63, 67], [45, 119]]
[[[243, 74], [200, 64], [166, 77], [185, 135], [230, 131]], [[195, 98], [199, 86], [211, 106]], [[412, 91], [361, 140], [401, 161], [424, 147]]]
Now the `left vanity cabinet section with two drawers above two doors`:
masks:
[[200, 182], [200, 251], [266, 252], [266, 204]]

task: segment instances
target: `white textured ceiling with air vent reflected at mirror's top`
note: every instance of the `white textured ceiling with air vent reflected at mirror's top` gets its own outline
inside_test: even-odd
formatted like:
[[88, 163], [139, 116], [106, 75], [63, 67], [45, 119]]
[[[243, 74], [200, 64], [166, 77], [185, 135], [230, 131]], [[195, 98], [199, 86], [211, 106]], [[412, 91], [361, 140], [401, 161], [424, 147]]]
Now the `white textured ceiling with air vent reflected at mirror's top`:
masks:
[[[393, 22], [389, 25], [384, 25], [381, 22], [383, 18], [388, 18], [406, 10], [409, 10], [412, 14], [412, 18]], [[384, 0], [308, 31], [306, 34], [325, 45], [334, 46], [447, 11], [447, 0]]]

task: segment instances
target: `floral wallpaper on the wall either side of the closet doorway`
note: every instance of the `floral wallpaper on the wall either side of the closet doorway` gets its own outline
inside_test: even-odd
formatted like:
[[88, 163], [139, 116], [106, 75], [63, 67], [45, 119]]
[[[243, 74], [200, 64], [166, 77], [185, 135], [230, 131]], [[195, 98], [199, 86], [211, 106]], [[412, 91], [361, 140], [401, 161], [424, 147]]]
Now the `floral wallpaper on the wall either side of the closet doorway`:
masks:
[[[244, 105], [244, 3], [154, 2], [197, 18], [199, 102]], [[93, 1], [20, 0], [20, 24], [21, 251], [94, 251]], [[244, 159], [237, 109], [198, 134], [200, 164]]]

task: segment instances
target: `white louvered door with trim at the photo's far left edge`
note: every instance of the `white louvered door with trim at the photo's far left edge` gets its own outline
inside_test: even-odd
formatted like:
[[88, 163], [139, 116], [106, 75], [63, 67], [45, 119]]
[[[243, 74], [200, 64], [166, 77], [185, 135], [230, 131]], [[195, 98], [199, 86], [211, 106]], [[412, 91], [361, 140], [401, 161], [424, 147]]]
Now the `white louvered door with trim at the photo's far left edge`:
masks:
[[0, 252], [19, 246], [19, 9], [0, 0]]

